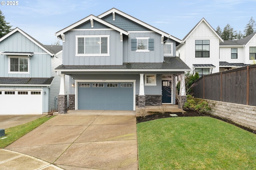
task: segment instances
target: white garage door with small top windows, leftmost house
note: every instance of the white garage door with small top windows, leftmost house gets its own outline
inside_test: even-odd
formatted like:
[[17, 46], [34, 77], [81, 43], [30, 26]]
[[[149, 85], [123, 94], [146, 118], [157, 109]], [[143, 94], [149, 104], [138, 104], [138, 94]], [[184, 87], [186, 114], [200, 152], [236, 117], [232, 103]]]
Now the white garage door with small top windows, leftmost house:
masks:
[[41, 90], [0, 90], [0, 114], [42, 114]]

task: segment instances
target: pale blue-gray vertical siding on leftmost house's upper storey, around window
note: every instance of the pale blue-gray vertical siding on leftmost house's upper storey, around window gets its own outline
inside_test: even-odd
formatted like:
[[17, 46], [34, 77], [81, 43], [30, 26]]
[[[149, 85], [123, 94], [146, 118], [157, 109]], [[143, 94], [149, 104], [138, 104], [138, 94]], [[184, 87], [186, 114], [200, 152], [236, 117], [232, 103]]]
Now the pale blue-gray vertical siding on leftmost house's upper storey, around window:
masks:
[[[20, 32], [15, 32], [0, 42], [0, 51], [33, 52], [29, 59], [29, 73], [8, 73], [8, 55], [0, 55], [0, 77], [51, 77], [51, 57], [42, 48]], [[40, 54], [35, 54], [40, 53]], [[4, 64], [3, 64], [4, 63]]]

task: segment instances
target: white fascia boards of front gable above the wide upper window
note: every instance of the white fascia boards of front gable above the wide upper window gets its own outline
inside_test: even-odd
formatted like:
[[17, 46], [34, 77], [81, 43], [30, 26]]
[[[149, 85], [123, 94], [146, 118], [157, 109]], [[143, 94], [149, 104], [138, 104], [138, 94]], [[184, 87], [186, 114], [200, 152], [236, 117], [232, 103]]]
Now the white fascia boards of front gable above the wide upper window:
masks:
[[91, 19], [92, 19], [92, 20], [95, 20], [95, 21], [98, 21], [98, 22], [100, 22], [100, 23], [102, 23], [102, 24], [104, 24], [104, 25], [106, 25], [106, 26], [108, 26], [108, 27], [110, 27], [110, 28], [113, 28], [113, 29], [115, 29], [116, 31], [119, 31], [120, 33], [123, 33], [124, 35], [128, 35], [128, 32], [127, 32], [127, 31], [125, 31], [125, 30], [123, 30], [123, 29], [121, 29], [121, 28], [119, 28], [119, 27], [116, 27], [115, 25], [112, 25], [111, 23], [108, 23], [108, 22], [106, 22], [106, 21], [104, 21], [104, 20], [102, 20], [102, 19], [100, 19], [100, 18], [98, 18], [98, 17], [96, 17], [96, 16], [94, 16], [94, 15], [90, 15], [90, 16], [88, 16], [88, 17], [86, 17], [86, 18], [84, 18], [84, 19], [82, 19], [82, 20], [80, 20], [80, 21], [77, 21], [76, 23], [73, 23], [72, 25], [70, 25], [70, 26], [68, 26], [68, 27], [66, 27], [66, 28], [64, 28], [64, 29], [62, 29], [62, 30], [56, 32], [55, 35], [58, 37], [58, 36], [61, 35], [62, 33], [65, 33], [65, 32], [67, 32], [67, 31], [73, 29], [74, 27], [77, 27], [78, 25], [81, 25], [82, 23], [84, 23], [84, 22], [86, 22], [86, 21], [89, 21], [89, 20], [91, 20]]

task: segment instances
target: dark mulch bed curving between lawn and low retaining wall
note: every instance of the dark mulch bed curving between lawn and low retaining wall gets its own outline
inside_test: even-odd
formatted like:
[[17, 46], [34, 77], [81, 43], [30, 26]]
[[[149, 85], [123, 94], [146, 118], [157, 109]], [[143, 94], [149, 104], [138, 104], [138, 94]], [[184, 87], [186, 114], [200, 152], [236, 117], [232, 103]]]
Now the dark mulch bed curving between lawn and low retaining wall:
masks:
[[[145, 117], [136, 117], [136, 122], [137, 123], [141, 123], [141, 122], [145, 122], [145, 121], [150, 121], [150, 120], [155, 120], [155, 119], [162, 119], [162, 118], [167, 118], [167, 117], [172, 117], [170, 114], [176, 114], [178, 115], [178, 117], [192, 117], [192, 116], [210, 116], [210, 117], [213, 117], [215, 119], [219, 119], [219, 120], [222, 120], [222, 121], [225, 121], [227, 123], [230, 123], [232, 125], [235, 125], [237, 127], [240, 127], [246, 131], [249, 131], [251, 133], [254, 133], [256, 134], [256, 131], [254, 129], [250, 129], [248, 127], [244, 127], [242, 125], [239, 125], [229, 119], [225, 119], [223, 117], [218, 117], [216, 115], [212, 115], [212, 114], [208, 114], [208, 113], [198, 113], [197, 111], [194, 111], [194, 110], [190, 110], [190, 109], [184, 109], [184, 113], [182, 112], [165, 112], [164, 114], [162, 113], [156, 113], [156, 114], [152, 114], [152, 115], [147, 115]], [[173, 117], [175, 118], [175, 117]]]

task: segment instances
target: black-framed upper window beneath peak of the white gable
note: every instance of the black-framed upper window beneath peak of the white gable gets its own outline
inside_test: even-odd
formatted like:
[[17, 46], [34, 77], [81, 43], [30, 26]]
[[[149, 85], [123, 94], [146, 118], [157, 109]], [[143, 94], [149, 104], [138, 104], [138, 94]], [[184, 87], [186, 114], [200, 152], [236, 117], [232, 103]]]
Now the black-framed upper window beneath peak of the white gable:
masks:
[[210, 57], [210, 40], [196, 40], [196, 57]]

